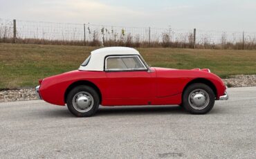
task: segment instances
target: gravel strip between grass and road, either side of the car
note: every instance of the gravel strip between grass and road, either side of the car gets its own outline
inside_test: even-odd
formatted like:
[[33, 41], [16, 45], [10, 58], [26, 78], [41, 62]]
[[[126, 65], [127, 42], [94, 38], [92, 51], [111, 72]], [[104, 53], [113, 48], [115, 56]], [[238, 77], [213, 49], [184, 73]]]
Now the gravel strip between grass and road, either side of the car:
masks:
[[[228, 87], [256, 86], [256, 75], [235, 75], [223, 79]], [[0, 91], [0, 102], [37, 100], [35, 88]]]

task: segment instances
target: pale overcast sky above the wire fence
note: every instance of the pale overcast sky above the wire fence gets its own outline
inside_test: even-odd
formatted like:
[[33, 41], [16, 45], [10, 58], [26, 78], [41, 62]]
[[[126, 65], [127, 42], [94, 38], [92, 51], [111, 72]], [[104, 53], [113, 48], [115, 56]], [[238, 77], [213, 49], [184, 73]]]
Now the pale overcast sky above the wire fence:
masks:
[[0, 0], [0, 18], [256, 32], [256, 0]]

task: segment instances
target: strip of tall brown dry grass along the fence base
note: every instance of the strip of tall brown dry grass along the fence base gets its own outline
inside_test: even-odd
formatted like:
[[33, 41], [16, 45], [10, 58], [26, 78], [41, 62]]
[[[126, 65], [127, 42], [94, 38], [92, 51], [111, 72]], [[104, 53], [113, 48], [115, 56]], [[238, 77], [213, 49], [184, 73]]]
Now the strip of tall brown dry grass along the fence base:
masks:
[[[0, 38], [0, 43], [13, 43], [12, 38]], [[33, 38], [19, 38], [16, 39], [16, 44], [44, 44], [44, 45], [69, 45], [69, 46], [127, 46], [133, 48], [194, 48], [193, 41], [191, 41], [191, 36], [188, 35], [188, 40], [183, 41], [170, 41], [168, 35], [163, 35], [162, 41], [142, 41], [127, 35], [120, 39], [104, 39], [101, 41], [98, 37], [85, 42], [82, 40], [51, 40], [51, 39], [33, 39]], [[225, 42], [223, 44], [211, 44], [209, 41], [205, 41], [201, 44], [196, 44], [198, 49], [215, 49], [215, 50], [255, 50], [256, 49], [256, 39], [248, 40], [244, 43], [242, 42]]]

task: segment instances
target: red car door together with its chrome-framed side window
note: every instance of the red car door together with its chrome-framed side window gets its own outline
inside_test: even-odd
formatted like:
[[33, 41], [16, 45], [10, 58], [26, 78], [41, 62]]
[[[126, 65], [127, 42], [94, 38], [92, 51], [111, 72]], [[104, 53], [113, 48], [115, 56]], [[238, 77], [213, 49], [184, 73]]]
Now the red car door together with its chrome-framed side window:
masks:
[[105, 59], [107, 98], [116, 105], [150, 104], [152, 73], [138, 55], [109, 56]]

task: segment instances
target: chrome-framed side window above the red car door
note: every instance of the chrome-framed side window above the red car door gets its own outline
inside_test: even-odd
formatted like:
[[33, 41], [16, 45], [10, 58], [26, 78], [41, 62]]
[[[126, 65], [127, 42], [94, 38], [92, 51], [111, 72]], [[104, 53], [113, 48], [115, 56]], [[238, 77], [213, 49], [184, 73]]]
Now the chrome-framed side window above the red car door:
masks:
[[107, 57], [106, 71], [141, 71], [147, 68], [136, 55], [134, 56], [110, 56]]

